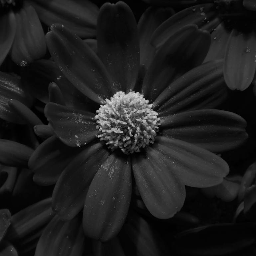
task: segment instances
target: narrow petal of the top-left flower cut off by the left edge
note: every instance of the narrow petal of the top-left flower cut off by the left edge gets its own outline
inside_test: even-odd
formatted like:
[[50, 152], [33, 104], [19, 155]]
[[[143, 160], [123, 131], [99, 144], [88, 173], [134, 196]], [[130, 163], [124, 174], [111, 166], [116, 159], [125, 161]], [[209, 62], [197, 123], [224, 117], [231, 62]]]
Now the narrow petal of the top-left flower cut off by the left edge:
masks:
[[0, 65], [12, 47], [15, 29], [16, 21], [13, 12], [0, 16]]

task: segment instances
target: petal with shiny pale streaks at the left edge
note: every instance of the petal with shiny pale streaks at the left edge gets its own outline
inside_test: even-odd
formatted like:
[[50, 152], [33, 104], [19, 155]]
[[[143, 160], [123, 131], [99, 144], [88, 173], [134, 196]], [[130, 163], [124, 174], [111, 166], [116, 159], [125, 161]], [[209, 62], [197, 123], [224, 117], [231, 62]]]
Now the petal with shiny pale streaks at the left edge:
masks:
[[16, 99], [20, 102], [30, 105], [30, 97], [25, 94], [20, 78], [16, 75], [0, 72], [0, 118], [14, 123], [24, 123], [24, 120], [17, 116], [8, 101]]

